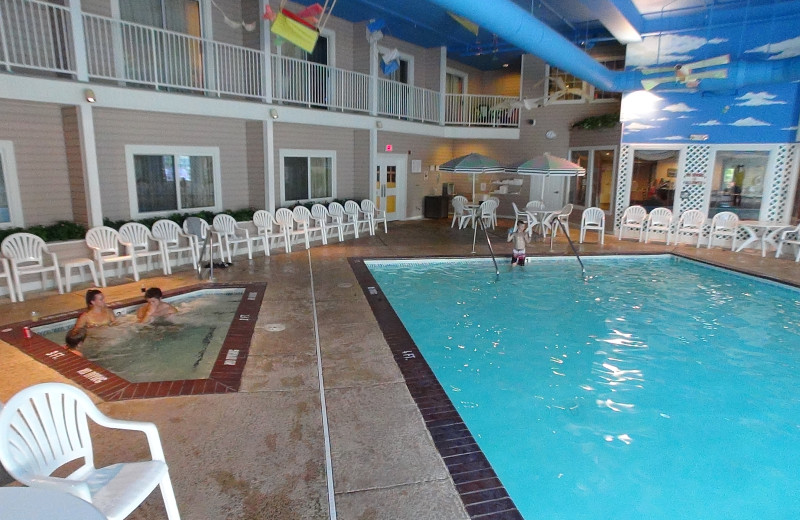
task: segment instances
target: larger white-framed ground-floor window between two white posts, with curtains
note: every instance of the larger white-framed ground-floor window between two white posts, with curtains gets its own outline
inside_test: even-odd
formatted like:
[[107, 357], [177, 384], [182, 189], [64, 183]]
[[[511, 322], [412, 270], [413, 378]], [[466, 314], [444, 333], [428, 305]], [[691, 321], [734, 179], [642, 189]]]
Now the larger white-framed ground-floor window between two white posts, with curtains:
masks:
[[221, 210], [218, 148], [126, 146], [131, 216]]

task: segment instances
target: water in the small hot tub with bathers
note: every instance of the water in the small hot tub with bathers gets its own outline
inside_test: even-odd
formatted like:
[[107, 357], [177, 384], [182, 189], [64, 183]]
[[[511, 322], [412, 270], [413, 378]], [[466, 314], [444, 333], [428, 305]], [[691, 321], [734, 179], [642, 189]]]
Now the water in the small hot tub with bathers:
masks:
[[[206, 289], [165, 298], [177, 314], [137, 323], [139, 306], [117, 309], [117, 324], [88, 329], [81, 353], [132, 383], [206, 379], [217, 360], [243, 289]], [[34, 332], [64, 344], [75, 324], [67, 320]]]

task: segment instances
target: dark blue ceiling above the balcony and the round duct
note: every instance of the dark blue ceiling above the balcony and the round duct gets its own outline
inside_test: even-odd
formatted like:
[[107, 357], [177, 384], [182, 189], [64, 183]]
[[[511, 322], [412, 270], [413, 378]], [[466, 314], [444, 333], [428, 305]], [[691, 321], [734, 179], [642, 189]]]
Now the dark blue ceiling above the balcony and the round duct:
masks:
[[[496, 1], [496, 0], [477, 0]], [[584, 48], [690, 30], [735, 31], [755, 20], [797, 23], [800, 0], [509, 0]], [[299, 0], [310, 5], [314, 0]], [[480, 29], [475, 36], [429, 0], [338, 0], [333, 15], [351, 22], [383, 19], [384, 34], [482, 69], [519, 62], [522, 51]], [[473, 20], [479, 26], [480, 20]]]

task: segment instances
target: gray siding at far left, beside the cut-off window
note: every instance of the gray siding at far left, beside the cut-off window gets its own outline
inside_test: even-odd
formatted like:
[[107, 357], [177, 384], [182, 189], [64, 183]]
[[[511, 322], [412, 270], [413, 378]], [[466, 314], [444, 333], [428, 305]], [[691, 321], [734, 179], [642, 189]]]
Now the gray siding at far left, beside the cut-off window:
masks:
[[72, 220], [61, 109], [0, 100], [0, 140], [14, 143], [26, 226]]

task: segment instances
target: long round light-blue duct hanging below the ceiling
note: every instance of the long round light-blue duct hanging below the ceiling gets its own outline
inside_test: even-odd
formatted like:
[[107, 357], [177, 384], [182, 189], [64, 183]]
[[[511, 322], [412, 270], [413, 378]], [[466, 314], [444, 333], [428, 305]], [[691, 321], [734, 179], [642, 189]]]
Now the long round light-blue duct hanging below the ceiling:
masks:
[[[497, 34], [505, 41], [540, 57], [595, 87], [609, 92], [641, 90], [639, 70], [611, 71], [512, 0], [430, 0]], [[736, 89], [746, 85], [800, 80], [800, 57], [784, 60], [739, 61], [727, 65], [726, 79], [703, 79], [702, 90]], [[660, 88], [675, 88], [664, 83]]]

